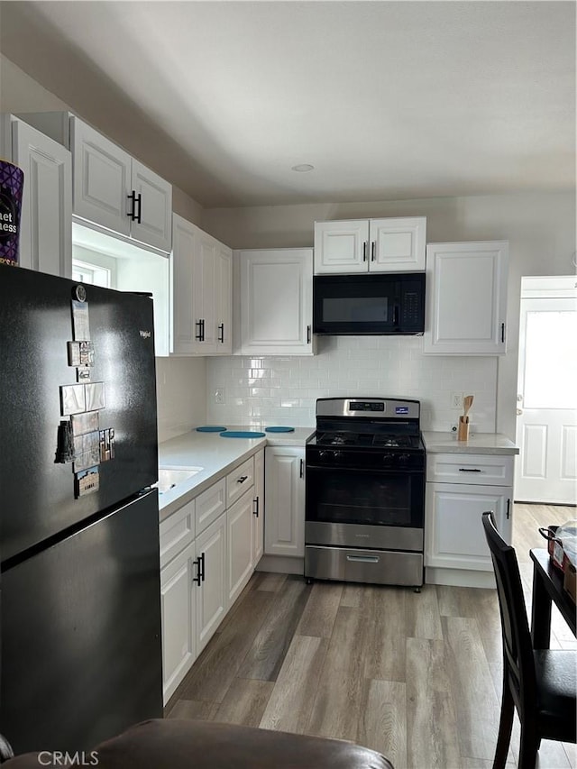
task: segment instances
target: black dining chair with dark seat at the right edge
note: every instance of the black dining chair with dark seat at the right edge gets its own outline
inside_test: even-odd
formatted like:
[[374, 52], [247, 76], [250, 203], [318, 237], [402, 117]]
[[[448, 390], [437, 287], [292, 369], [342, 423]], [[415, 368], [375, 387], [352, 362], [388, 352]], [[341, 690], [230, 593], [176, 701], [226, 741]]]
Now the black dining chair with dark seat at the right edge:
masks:
[[535, 769], [541, 739], [577, 742], [575, 693], [577, 653], [533, 649], [515, 549], [482, 514], [497, 581], [503, 637], [503, 696], [493, 769], [502, 769], [515, 708], [521, 724], [519, 769]]

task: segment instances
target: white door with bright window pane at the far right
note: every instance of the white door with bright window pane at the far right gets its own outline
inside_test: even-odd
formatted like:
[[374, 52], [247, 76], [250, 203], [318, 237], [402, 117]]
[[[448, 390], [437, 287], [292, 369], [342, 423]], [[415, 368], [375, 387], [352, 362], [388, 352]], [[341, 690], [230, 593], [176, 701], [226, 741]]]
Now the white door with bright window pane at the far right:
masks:
[[575, 504], [576, 409], [577, 302], [521, 298], [515, 499]]

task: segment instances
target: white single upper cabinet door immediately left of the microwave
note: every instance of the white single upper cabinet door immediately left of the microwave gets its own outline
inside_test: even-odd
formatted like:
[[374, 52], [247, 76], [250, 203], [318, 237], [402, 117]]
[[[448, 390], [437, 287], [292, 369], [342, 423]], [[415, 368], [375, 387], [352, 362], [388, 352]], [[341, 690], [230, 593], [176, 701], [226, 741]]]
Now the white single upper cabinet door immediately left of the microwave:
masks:
[[244, 355], [312, 355], [311, 249], [239, 252]]

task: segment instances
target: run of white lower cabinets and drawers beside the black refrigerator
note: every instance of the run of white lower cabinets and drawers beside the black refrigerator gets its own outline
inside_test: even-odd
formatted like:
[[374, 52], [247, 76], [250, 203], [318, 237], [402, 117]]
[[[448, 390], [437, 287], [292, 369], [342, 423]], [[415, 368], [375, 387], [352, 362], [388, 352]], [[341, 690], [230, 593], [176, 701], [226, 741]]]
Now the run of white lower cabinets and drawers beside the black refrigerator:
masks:
[[160, 523], [165, 704], [261, 558], [263, 487], [261, 449]]

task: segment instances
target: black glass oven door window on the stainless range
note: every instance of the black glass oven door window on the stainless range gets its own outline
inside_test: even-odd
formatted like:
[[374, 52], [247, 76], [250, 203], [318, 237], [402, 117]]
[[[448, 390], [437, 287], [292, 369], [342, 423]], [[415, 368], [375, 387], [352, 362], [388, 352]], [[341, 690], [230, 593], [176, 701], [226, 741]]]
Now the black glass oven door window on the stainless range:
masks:
[[423, 474], [307, 468], [307, 520], [420, 528]]

